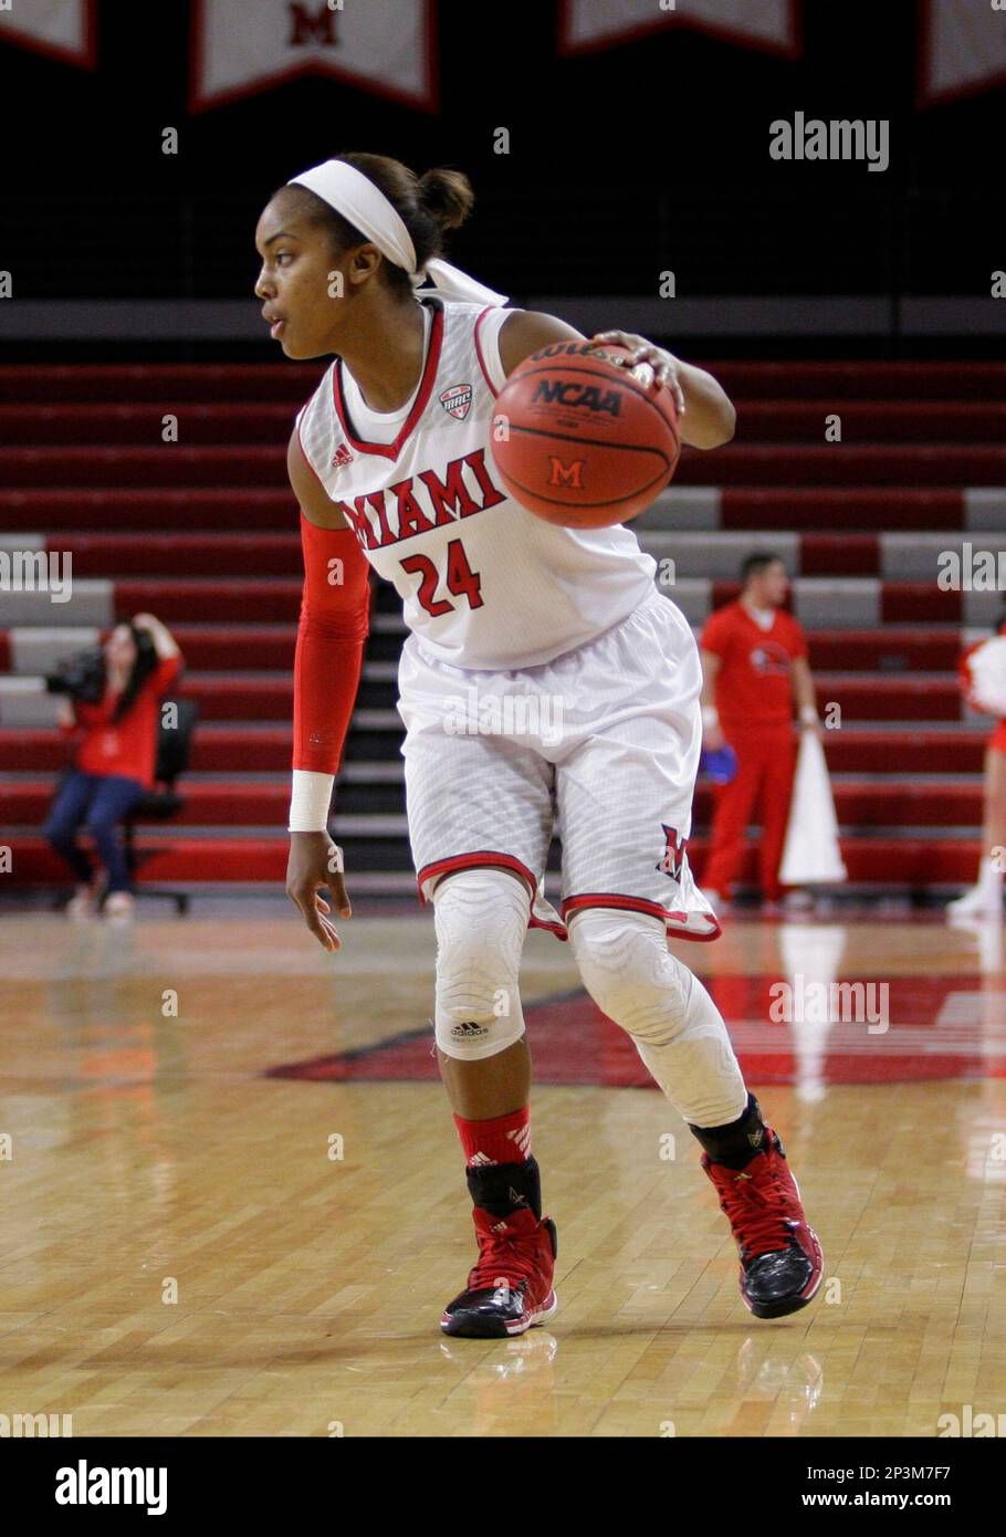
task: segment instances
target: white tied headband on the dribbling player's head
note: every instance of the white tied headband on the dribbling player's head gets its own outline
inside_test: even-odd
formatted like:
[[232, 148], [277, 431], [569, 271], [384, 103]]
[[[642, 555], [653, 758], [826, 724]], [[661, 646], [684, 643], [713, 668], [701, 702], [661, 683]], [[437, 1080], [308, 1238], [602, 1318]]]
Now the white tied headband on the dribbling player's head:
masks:
[[323, 203], [355, 224], [367, 240], [372, 240], [381, 255], [404, 267], [412, 286], [419, 287], [430, 278], [442, 298], [462, 300], [468, 304], [505, 304], [507, 295], [476, 283], [475, 278], [441, 257], [430, 257], [422, 271], [416, 271], [416, 247], [405, 229], [398, 209], [384, 197], [370, 177], [344, 160], [326, 160], [312, 166], [299, 177], [290, 177], [287, 186], [303, 186]]

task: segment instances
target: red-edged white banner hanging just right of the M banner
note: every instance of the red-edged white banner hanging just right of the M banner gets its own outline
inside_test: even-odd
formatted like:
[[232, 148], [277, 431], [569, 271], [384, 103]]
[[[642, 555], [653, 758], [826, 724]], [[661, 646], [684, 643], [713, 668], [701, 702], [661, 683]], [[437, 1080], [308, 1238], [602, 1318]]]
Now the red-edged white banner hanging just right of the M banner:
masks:
[[559, 49], [605, 48], [656, 28], [687, 26], [794, 58], [800, 52], [799, 0], [562, 0]]

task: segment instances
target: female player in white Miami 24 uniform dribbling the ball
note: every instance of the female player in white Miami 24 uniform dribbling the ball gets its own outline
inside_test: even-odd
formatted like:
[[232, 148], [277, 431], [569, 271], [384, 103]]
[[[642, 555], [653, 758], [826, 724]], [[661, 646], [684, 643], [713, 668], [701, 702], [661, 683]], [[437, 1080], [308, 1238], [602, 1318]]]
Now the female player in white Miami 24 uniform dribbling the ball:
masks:
[[[699, 653], [630, 529], [561, 529], [501, 489], [496, 393], [531, 352], [584, 338], [551, 315], [505, 309], [504, 295], [441, 258], [444, 231], [472, 201], [459, 172], [416, 177], [396, 160], [346, 154], [281, 188], [258, 223], [255, 292], [272, 337], [289, 358], [335, 355], [289, 446], [306, 583], [287, 891], [338, 948], [318, 890], [350, 916], [326, 828], [373, 567], [399, 592], [410, 630], [398, 704], [409, 836], [421, 899], [435, 904], [438, 1056], [479, 1245], [441, 1326], [521, 1334], [556, 1310], [519, 994], [528, 924], [562, 939], [568, 925], [584, 987], [702, 1144], [745, 1302], [777, 1317], [817, 1291], [820, 1247], [719, 1011], [667, 944], [719, 934], [685, 855]], [[685, 443], [733, 437], [733, 406], [702, 369], [642, 337], [601, 340], [628, 344], [674, 392]], [[516, 696], [527, 732], [487, 733], [485, 707]], [[458, 730], [459, 701], [473, 698], [479, 721]], [[531, 729], [538, 707], [551, 721], [556, 702], [558, 739]], [[562, 918], [542, 890], [553, 819]]]

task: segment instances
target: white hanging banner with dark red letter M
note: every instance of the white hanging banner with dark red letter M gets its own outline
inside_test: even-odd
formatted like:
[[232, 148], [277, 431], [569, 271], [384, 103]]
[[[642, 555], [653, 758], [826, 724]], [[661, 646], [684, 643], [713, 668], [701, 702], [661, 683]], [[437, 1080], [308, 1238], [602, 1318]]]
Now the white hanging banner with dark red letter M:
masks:
[[436, 106], [432, 0], [198, 0], [192, 26], [192, 112], [307, 74]]

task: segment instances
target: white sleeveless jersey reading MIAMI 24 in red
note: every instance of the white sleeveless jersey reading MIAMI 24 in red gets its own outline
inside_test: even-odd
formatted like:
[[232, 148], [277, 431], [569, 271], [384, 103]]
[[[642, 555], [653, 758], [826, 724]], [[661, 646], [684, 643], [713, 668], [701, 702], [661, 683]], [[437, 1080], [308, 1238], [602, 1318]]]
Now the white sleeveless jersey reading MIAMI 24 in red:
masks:
[[507, 495], [488, 444], [513, 310], [421, 303], [427, 354], [412, 403], [375, 417], [336, 357], [296, 418], [304, 456], [435, 659], [553, 661], [628, 618], [656, 561], [627, 527], [561, 529]]

